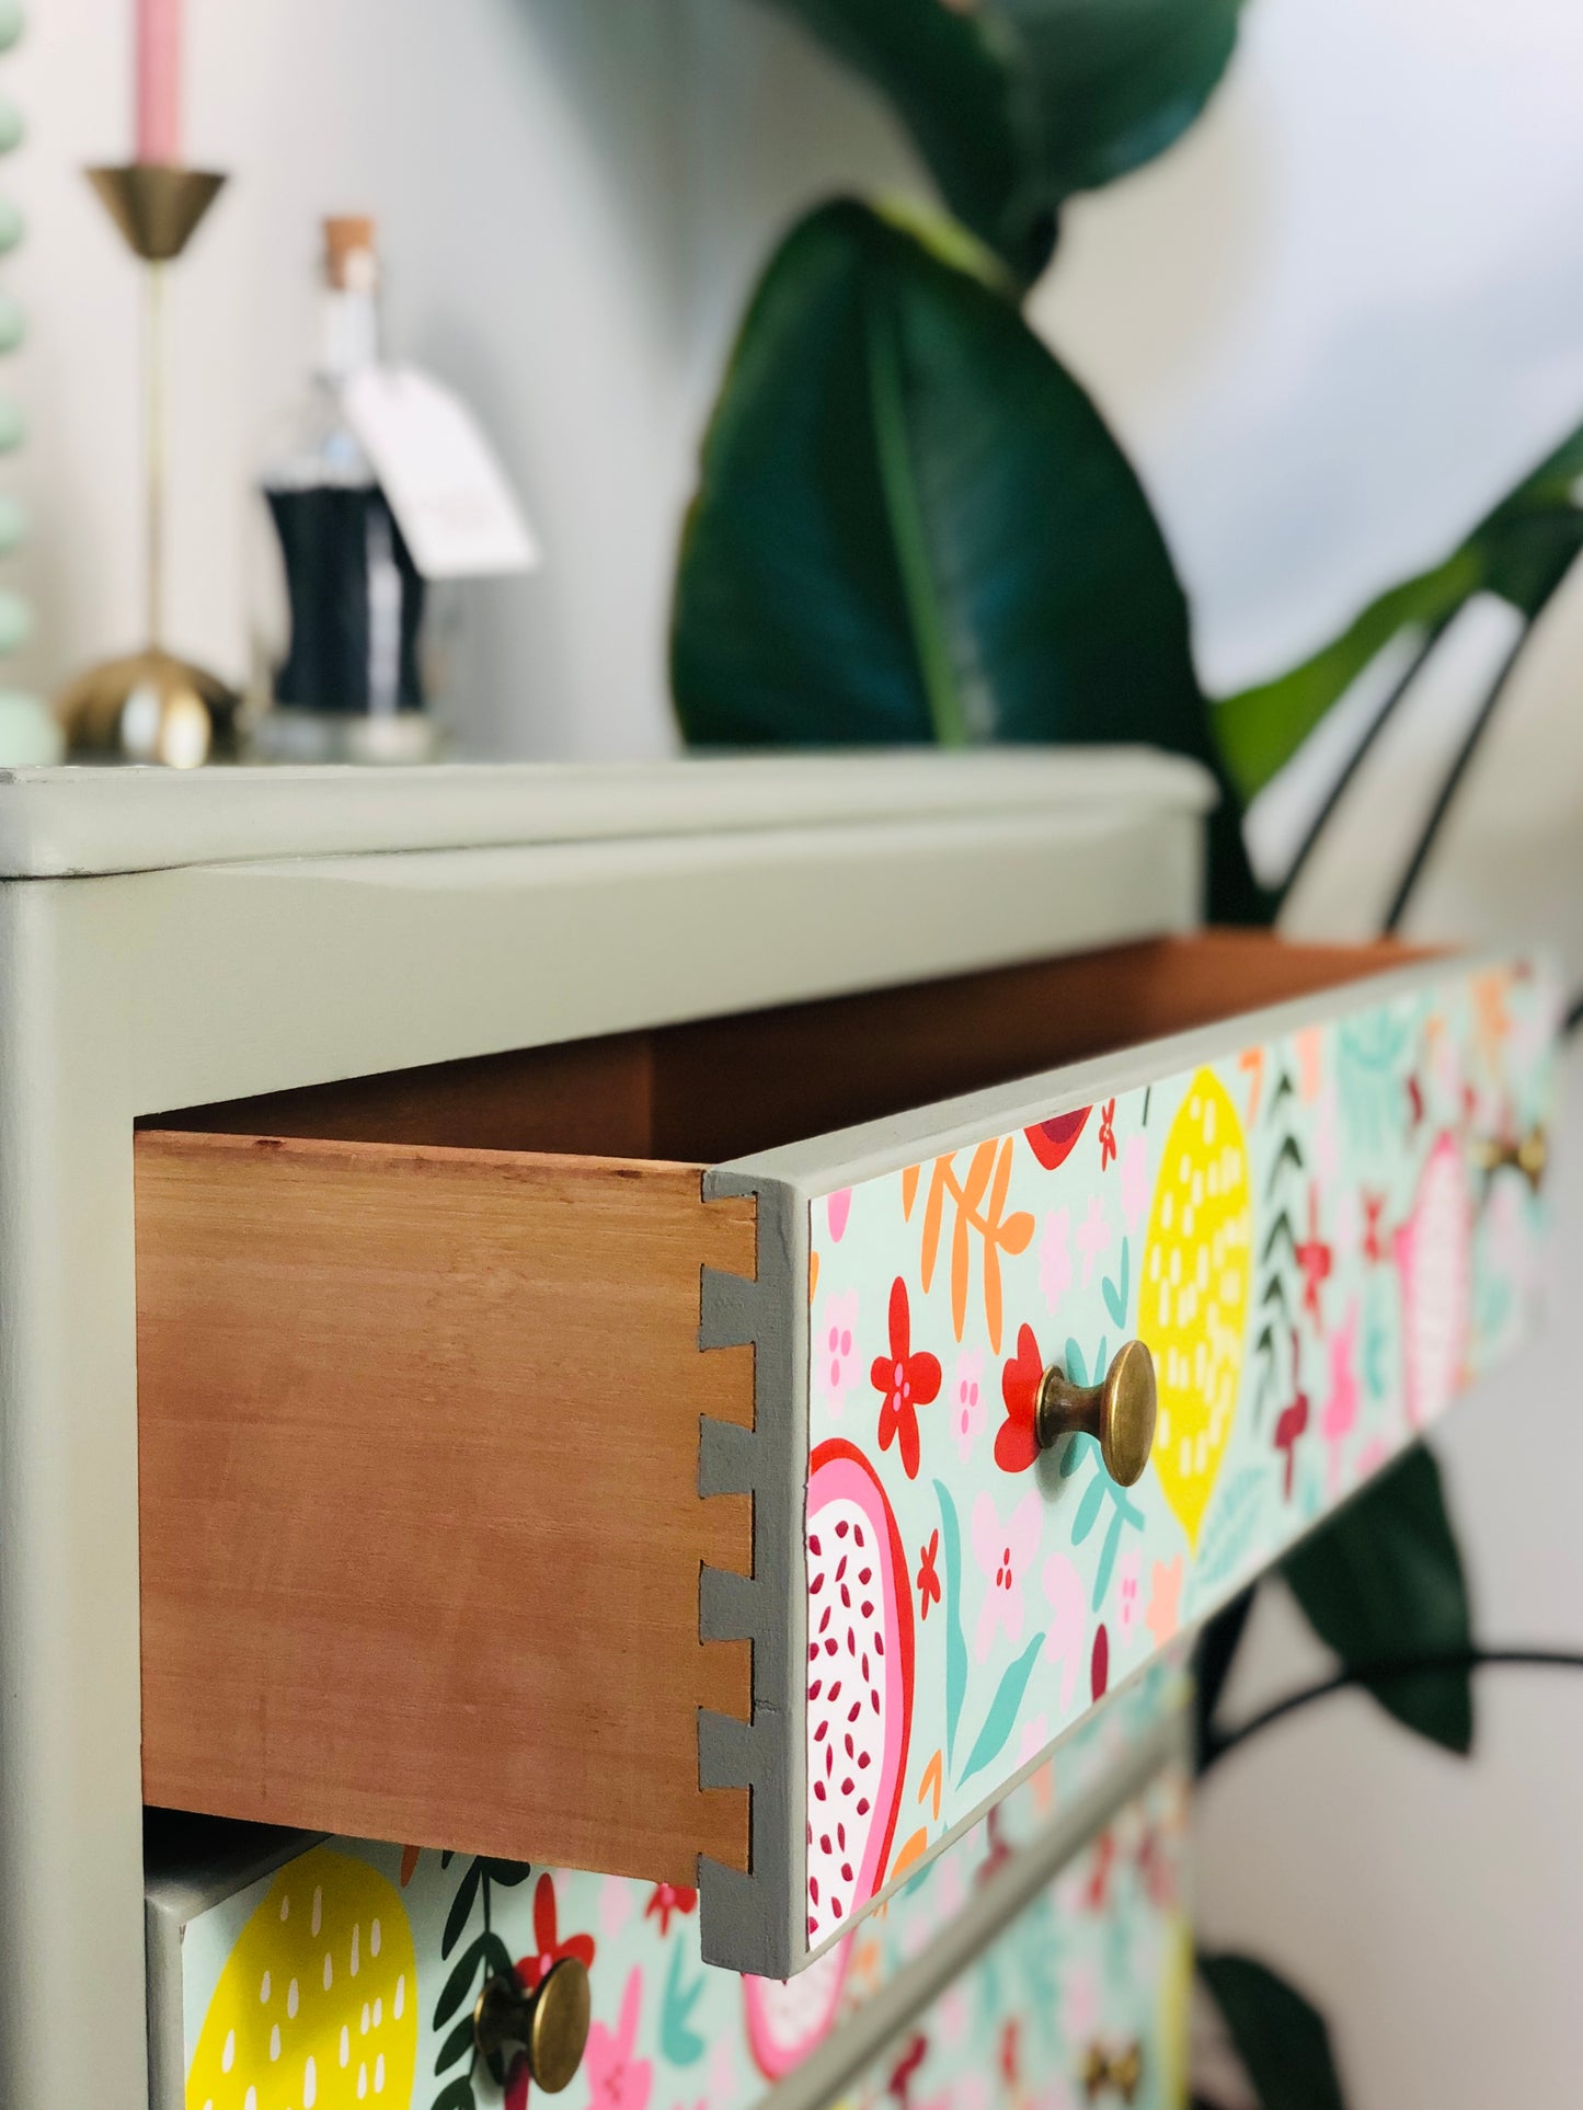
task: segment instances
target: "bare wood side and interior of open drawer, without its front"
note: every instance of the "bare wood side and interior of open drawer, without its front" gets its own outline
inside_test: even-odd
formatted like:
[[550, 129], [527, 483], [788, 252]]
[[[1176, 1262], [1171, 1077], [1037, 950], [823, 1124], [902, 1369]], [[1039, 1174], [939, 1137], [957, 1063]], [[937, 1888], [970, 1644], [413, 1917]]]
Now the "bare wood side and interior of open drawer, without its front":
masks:
[[709, 1163], [1380, 973], [1207, 935], [167, 1112], [137, 1135], [152, 1804], [688, 1884], [747, 1865], [756, 1272]]

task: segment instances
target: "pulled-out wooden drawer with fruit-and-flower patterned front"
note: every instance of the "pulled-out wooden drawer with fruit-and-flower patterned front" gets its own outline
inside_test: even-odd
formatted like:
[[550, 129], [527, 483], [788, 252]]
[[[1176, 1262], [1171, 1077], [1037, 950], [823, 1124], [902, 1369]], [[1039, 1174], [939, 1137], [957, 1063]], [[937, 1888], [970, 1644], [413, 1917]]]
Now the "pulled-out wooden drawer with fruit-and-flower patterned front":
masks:
[[1524, 1334], [1551, 1042], [1205, 935], [163, 1116], [146, 1800], [800, 1969]]

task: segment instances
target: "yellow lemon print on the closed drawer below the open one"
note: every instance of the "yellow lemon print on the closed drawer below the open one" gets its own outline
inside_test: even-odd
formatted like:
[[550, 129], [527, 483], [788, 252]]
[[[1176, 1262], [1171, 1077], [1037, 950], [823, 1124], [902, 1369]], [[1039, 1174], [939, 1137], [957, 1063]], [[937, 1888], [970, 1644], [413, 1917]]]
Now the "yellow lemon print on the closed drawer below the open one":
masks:
[[314, 1846], [230, 1952], [188, 2068], [188, 2110], [407, 2110], [418, 1969], [399, 1895]]

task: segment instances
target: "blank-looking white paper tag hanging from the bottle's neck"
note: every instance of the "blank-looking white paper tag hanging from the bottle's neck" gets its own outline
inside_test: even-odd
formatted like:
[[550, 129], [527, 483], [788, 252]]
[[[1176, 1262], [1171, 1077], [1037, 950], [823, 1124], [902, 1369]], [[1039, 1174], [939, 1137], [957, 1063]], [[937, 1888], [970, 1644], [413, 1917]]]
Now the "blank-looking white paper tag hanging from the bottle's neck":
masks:
[[418, 367], [365, 367], [344, 407], [424, 578], [536, 570], [534, 532], [460, 397]]

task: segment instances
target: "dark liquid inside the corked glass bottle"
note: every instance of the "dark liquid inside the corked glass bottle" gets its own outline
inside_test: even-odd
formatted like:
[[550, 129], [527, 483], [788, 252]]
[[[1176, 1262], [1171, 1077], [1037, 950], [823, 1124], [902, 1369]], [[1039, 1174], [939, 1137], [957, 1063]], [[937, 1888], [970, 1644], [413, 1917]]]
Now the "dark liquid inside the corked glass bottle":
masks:
[[274, 701], [300, 711], [420, 711], [424, 582], [376, 483], [272, 490], [291, 644]]

